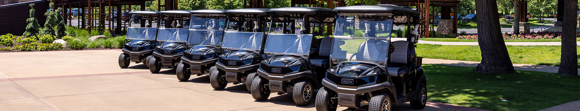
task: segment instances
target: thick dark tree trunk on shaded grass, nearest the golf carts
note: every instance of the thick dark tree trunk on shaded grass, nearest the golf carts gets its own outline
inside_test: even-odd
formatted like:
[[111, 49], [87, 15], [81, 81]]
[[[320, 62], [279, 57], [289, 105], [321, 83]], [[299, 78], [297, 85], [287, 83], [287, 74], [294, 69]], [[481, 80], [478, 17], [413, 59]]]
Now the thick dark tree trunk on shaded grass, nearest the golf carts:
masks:
[[[496, 1], [476, 0], [478, 43], [481, 63], [475, 71], [481, 73], [511, 73], [512, 60], [509, 58], [501, 28], [499, 28], [498, 5]], [[514, 18], [515, 20], [516, 18]]]

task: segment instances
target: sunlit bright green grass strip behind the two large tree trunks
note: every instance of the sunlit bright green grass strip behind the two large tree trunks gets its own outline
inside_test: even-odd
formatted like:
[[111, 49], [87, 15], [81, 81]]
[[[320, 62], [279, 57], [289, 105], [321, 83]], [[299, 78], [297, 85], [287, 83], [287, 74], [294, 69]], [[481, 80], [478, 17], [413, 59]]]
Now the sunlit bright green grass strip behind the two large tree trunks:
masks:
[[[580, 46], [577, 46], [580, 51]], [[419, 44], [417, 56], [444, 60], [481, 61], [479, 46], [447, 46]], [[560, 46], [507, 46], [514, 64], [552, 65], [560, 64]], [[580, 58], [580, 55], [578, 55]], [[579, 60], [580, 63], [580, 60]], [[579, 64], [580, 66], [580, 64]]]

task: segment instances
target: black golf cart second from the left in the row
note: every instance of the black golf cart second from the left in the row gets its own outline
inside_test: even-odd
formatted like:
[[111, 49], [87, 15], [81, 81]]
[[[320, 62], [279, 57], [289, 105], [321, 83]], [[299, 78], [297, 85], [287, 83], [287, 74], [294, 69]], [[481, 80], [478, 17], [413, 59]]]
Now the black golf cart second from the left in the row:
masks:
[[[183, 21], [189, 20], [191, 13], [186, 10], [161, 11], [165, 28], [159, 28], [157, 41], [161, 42], [155, 47], [152, 57], [147, 57], [149, 71], [157, 73], [161, 67], [174, 68], [181, 61], [183, 51], [189, 49], [187, 36], [189, 29], [183, 28]], [[169, 28], [168, 28], [169, 27]]]

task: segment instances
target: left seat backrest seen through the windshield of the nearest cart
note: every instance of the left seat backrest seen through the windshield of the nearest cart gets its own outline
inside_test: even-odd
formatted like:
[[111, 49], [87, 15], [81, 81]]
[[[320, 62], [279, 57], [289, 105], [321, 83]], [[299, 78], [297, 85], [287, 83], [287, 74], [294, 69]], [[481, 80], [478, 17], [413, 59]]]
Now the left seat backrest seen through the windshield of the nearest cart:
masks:
[[375, 40], [369, 39], [362, 42], [358, 46], [358, 52], [356, 55], [357, 60], [371, 60], [371, 61], [385, 61], [379, 60], [379, 58], [386, 58], [387, 55], [387, 42], [385, 40]]

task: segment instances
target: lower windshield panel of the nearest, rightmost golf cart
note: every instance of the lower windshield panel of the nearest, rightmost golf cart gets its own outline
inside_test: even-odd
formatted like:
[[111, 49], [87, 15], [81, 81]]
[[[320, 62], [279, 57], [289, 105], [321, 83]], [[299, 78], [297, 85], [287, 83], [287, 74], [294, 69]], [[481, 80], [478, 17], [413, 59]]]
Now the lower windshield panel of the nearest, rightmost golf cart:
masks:
[[331, 58], [342, 61], [385, 62], [389, 51], [390, 38], [360, 38], [335, 36]]

